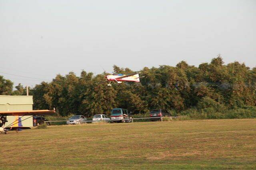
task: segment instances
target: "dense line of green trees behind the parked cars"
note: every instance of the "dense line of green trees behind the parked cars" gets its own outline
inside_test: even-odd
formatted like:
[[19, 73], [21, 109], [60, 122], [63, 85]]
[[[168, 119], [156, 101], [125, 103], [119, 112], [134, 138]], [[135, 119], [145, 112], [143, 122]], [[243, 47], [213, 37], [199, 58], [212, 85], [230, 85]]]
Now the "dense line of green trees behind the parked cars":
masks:
[[[130, 68], [113, 66], [114, 72], [129, 74]], [[80, 76], [69, 72], [57, 74], [52, 82], [41, 82], [30, 88], [34, 109], [53, 109], [61, 116], [109, 112], [114, 107], [136, 113], [150, 109], [167, 109], [172, 115], [198, 118], [256, 117], [256, 68], [244, 63], [224, 64], [222, 57], [198, 67], [181, 61], [176, 66], [144, 67], [140, 83], [98, 84], [108, 72], [93, 75], [82, 71]], [[19, 84], [0, 76], [1, 95], [26, 95]]]

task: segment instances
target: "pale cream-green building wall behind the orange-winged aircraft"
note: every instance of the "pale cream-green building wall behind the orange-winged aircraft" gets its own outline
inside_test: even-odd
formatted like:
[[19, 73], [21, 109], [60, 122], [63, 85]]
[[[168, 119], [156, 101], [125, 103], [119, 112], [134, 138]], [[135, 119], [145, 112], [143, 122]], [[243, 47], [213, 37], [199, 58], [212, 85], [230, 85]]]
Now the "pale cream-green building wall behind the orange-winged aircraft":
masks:
[[[24, 111], [33, 110], [33, 96], [3, 96], [0, 95], [0, 111]], [[20, 116], [22, 120], [22, 126], [32, 127], [33, 117]], [[29, 118], [30, 117], [30, 118]], [[8, 122], [5, 126], [8, 126], [16, 119], [15, 116], [7, 116]], [[25, 120], [26, 119], [26, 120]]]

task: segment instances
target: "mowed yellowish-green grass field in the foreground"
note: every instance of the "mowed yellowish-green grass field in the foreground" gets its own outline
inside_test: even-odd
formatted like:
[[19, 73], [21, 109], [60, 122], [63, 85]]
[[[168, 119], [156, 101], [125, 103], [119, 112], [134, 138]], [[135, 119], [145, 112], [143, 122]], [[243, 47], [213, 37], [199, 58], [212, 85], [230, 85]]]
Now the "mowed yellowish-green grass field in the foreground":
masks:
[[0, 169], [256, 168], [256, 119], [62, 125], [0, 143]]

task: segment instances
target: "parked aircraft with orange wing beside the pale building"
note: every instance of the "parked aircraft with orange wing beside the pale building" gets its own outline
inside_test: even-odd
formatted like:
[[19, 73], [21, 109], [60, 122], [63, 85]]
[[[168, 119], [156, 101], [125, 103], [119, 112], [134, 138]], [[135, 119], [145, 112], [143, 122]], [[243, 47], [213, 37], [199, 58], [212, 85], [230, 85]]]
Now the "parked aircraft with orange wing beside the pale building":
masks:
[[[0, 111], [0, 133], [7, 134], [8, 131], [19, 131], [20, 129], [31, 129], [30, 127], [23, 127], [22, 121], [29, 119], [35, 115], [52, 115], [55, 111], [52, 110], [29, 110], [29, 111]], [[30, 116], [31, 115], [31, 116]], [[8, 122], [6, 116], [16, 116], [14, 122], [5, 127]], [[21, 119], [23, 116], [30, 116], [26, 119]]]

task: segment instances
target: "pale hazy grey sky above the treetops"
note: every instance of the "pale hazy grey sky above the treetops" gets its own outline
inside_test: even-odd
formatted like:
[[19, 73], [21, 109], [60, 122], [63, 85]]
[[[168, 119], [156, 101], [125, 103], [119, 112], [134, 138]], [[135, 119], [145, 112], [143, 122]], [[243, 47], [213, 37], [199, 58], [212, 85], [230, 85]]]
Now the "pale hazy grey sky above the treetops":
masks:
[[256, 0], [0, 0], [0, 75], [35, 86], [70, 71], [198, 66], [218, 54], [252, 68], [255, 9]]

